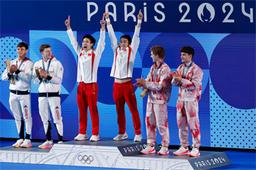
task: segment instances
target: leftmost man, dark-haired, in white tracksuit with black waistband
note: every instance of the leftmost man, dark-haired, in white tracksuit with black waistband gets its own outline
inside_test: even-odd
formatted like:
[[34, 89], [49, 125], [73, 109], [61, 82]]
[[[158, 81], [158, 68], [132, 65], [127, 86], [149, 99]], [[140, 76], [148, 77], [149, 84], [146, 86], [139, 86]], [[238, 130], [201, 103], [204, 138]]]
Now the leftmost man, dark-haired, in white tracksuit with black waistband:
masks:
[[[10, 61], [10, 72], [5, 69], [1, 75], [1, 80], [7, 81], [11, 77], [14, 78], [14, 84], [10, 83], [10, 109], [15, 117], [15, 123], [18, 129], [20, 139], [13, 147], [31, 147], [31, 76], [34, 63], [26, 58], [29, 46], [25, 42], [20, 42], [17, 45], [18, 58]], [[24, 120], [26, 125], [26, 136], [24, 136]], [[24, 140], [25, 139], [25, 140]]]

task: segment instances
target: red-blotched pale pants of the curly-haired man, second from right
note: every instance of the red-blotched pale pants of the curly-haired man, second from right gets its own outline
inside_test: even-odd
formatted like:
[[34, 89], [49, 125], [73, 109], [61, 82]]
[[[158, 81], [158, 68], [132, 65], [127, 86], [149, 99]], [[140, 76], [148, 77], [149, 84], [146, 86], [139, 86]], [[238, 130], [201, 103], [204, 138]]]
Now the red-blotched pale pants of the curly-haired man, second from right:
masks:
[[167, 123], [167, 105], [147, 103], [146, 131], [147, 143], [154, 146], [157, 139], [157, 128], [162, 135], [162, 146], [168, 147], [170, 142], [169, 125]]

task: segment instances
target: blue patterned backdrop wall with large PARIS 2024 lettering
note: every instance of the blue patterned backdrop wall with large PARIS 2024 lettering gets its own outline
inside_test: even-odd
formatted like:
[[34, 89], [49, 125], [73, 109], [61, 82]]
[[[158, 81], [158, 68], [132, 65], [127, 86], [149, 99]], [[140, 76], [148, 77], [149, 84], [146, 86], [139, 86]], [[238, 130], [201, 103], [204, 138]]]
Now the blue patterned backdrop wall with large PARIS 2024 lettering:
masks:
[[[64, 139], [78, 134], [76, 82], [78, 56], [75, 54], [64, 20], [70, 15], [71, 26], [81, 44], [84, 34], [99, 39], [99, 20], [109, 9], [110, 20], [119, 38], [133, 35], [137, 15], [144, 15], [140, 31], [140, 47], [135, 59], [132, 82], [146, 77], [151, 67], [150, 48], [165, 47], [165, 62], [172, 71], [181, 64], [179, 50], [195, 49], [193, 61], [203, 69], [203, 93], [199, 101], [201, 143], [205, 147], [256, 148], [255, 112], [255, 1], [1, 1], [0, 76], [4, 60], [17, 58], [18, 42], [29, 45], [26, 55], [36, 62], [42, 58], [39, 45], [50, 44], [53, 55], [64, 66], [61, 87], [61, 109]], [[110, 69], [113, 51], [106, 32], [106, 46], [98, 70], [99, 136], [118, 134], [116, 106], [113, 101], [113, 77]], [[33, 83], [31, 83], [33, 84]], [[0, 137], [18, 138], [10, 111], [9, 82], [0, 81]], [[31, 89], [33, 117], [32, 139], [45, 139], [38, 111], [37, 85]], [[142, 90], [135, 88], [138, 110], [146, 139], [146, 101]], [[176, 123], [178, 88], [173, 87], [167, 104], [170, 144], [179, 144]], [[126, 105], [127, 134], [134, 137], [132, 116]], [[53, 128], [53, 139], [57, 139]], [[91, 135], [91, 118], [88, 131]], [[157, 142], [162, 137], [157, 134]], [[189, 134], [189, 143], [192, 136]]]

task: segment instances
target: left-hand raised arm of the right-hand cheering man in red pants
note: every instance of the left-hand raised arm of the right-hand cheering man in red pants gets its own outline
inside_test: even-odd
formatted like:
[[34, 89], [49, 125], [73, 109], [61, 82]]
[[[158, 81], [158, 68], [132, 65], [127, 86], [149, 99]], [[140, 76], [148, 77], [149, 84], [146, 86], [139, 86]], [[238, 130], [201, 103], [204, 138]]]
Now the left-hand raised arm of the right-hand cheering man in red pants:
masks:
[[114, 30], [113, 30], [113, 27], [110, 23], [110, 18], [109, 18], [108, 12], [105, 12], [103, 15], [104, 15], [104, 17], [107, 21], [108, 36], [110, 37], [111, 47], [112, 47], [113, 53], [115, 53], [116, 48], [119, 46], [119, 44], [117, 42], [116, 35], [115, 35]]

